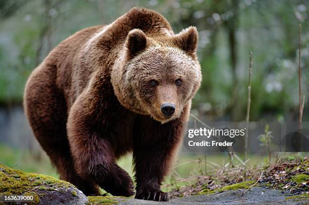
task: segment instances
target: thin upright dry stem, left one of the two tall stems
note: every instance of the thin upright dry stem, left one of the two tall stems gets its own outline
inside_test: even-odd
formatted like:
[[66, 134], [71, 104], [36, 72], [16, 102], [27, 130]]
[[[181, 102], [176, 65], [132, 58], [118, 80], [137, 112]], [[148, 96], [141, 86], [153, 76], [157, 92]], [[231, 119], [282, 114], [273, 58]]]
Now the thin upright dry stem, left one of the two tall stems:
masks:
[[244, 160], [247, 160], [247, 149], [248, 149], [248, 138], [249, 138], [249, 118], [250, 118], [250, 104], [251, 104], [251, 76], [252, 76], [252, 65], [253, 65], [253, 53], [250, 52], [250, 64], [249, 64], [249, 82], [248, 82], [248, 98], [247, 98], [247, 116], [246, 116], [246, 123], [247, 123], [247, 131], [245, 136], [244, 142]]

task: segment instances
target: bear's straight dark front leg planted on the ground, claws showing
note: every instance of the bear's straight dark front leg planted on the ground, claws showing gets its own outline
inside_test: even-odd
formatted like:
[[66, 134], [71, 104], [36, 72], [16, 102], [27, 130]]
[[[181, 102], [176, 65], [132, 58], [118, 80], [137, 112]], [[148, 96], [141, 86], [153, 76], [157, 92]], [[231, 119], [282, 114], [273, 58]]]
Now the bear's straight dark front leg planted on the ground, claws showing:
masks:
[[161, 124], [146, 116], [140, 116], [136, 121], [133, 144], [135, 198], [168, 201], [168, 194], [162, 192], [160, 186], [180, 144], [184, 124], [181, 119]]

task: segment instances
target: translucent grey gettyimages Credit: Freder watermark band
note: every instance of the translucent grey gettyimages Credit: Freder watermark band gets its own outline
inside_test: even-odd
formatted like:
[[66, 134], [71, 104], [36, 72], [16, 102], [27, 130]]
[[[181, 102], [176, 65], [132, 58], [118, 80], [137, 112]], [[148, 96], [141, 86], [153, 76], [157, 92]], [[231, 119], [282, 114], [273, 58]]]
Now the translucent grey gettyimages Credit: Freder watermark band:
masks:
[[[188, 122], [183, 151], [243, 151], [248, 136], [248, 152], [309, 151], [309, 122]], [[268, 147], [266, 147], [268, 146]]]

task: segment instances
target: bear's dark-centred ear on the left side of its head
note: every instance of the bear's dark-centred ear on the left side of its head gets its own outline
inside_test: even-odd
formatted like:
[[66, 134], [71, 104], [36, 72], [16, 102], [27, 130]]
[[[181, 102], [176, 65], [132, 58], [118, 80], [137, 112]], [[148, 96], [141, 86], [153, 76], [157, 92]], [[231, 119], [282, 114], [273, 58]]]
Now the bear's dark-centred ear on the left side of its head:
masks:
[[128, 59], [134, 58], [138, 53], [142, 52], [147, 45], [145, 33], [140, 29], [133, 29], [128, 33], [126, 47], [128, 49]]

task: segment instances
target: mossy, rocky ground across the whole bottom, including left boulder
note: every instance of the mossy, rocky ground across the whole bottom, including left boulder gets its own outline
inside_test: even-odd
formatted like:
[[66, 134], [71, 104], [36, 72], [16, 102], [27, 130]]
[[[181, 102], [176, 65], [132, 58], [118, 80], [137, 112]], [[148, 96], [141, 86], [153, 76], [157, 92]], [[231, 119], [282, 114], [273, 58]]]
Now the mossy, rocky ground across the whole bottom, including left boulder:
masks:
[[[72, 184], [0, 165], [0, 194], [30, 194], [33, 204], [49, 199], [63, 204], [309, 204], [307, 158], [277, 158], [264, 167], [227, 165], [189, 178], [172, 178], [169, 202], [133, 197], [86, 197]], [[0, 204], [3, 204], [0, 202]]]

